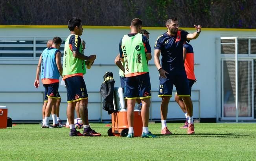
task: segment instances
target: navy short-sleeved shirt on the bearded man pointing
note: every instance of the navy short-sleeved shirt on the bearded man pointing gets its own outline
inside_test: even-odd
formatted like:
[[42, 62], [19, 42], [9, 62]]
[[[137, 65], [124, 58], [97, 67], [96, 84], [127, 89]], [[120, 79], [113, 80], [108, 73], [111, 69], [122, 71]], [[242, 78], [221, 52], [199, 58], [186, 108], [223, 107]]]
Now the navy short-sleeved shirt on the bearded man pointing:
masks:
[[168, 73], [186, 73], [183, 61], [183, 43], [188, 32], [178, 31], [176, 35], [164, 33], [157, 38], [155, 49], [161, 50], [161, 66]]

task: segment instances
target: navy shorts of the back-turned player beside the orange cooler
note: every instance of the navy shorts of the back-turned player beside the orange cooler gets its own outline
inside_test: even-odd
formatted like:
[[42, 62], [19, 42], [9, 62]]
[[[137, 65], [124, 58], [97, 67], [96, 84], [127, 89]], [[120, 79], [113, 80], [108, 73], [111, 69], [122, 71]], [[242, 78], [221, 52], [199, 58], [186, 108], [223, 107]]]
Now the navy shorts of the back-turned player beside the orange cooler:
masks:
[[126, 77], [125, 81], [126, 99], [146, 99], [151, 97], [151, 85], [149, 73]]

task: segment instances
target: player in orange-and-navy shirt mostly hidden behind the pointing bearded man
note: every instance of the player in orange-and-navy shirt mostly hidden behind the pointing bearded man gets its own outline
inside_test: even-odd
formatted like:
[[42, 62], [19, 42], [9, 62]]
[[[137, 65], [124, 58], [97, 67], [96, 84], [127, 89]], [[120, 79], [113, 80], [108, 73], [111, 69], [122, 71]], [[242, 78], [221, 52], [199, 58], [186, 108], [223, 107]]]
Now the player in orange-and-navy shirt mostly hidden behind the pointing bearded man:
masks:
[[[184, 66], [185, 66], [185, 71], [188, 78], [188, 85], [189, 85], [189, 90], [191, 95], [192, 86], [196, 82], [195, 73], [194, 73], [194, 51], [193, 51], [192, 45], [188, 44], [187, 42], [190, 42], [190, 40], [184, 41], [183, 60], [184, 60]], [[180, 128], [188, 128], [188, 114], [186, 112], [185, 104], [182, 98], [177, 95], [177, 93], [175, 93], [175, 101], [179, 104], [181, 110], [184, 112], [184, 115], [186, 117], [184, 126]]]

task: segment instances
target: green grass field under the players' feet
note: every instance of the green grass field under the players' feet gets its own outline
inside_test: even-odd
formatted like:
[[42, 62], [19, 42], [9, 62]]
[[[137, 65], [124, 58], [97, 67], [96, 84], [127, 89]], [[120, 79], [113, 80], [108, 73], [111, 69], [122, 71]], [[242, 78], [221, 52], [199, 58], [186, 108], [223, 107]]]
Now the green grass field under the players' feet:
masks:
[[109, 137], [106, 124], [92, 123], [101, 137], [69, 137], [69, 129], [17, 124], [0, 129], [0, 160], [256, 160], [255, 123], [196, 123], [195, 135], [168, 123], [173, 135], [158, 138]]

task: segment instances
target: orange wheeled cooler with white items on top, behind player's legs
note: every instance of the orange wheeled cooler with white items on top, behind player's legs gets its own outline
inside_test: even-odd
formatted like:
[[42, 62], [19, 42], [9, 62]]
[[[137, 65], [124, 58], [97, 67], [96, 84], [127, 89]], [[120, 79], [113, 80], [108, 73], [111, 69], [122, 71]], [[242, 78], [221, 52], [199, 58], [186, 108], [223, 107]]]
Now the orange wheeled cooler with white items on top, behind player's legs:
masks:
[[[123, 89], [115, 87], [114, 89], [114, 108], [118, 112], [111, 114], [112, 127], [108, 130], [109, 136], [128, 135], [127, 123], [127, 110], [125, 109], [125, 102], [123, 99]], [[141, 111], [134, 110], [134, 123], [133, 123], [134, 136], [141, 136], [142, 134], [142, 118]]]

